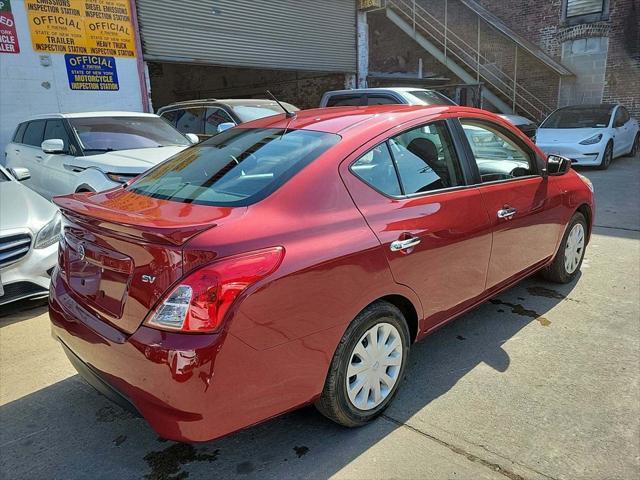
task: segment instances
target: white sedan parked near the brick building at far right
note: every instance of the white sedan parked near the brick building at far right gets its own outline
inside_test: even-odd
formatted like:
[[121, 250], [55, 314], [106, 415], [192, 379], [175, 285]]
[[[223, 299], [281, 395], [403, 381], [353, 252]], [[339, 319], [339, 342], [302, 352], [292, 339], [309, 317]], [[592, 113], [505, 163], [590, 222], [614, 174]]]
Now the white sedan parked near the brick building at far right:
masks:
[[547, 155], [604, 170], [616, 157], [637, 154], [638, 130], [638, 121], [622, 105], [574, 105], [559, 108], [542, 122], [536, 145]]

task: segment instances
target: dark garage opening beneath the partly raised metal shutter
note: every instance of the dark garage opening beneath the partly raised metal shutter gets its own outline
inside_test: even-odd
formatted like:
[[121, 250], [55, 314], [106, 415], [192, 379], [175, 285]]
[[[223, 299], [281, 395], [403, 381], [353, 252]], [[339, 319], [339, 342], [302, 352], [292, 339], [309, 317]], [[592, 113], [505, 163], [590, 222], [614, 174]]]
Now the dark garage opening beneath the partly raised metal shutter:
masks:
[[148, 67], [154, 110], [180, 100], [268, 98], [267, 89], [279, 100], [313, 108], [325, 91], [345, 88], [345, 75], [336, 73], [152, 62]]

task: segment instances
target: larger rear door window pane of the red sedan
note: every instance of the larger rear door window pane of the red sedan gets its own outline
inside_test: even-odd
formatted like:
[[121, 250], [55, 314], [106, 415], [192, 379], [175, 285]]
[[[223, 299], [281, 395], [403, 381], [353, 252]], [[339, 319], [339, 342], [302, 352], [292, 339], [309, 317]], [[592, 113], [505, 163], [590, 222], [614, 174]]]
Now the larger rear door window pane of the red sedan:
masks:
[[414, 128], [389, 140], [405, 195], [464, 185], [460, 162], [444, 122]]

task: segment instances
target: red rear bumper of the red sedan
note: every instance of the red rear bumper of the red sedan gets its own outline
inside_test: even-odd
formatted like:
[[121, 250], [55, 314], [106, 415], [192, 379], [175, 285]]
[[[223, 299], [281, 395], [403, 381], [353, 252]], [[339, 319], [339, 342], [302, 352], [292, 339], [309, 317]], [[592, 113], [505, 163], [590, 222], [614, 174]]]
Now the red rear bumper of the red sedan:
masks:
[[313, 401], [331, 358], [318, 349], [335, 348], [344, 330], [266, 350], [225, 331], [189, 335], [141, 326], [126, 335], [76, 302], [56, 273], [49, 316], [53, 337], [81, 376], [132, 406], [162, 438], [183, 442], [218, 438]]

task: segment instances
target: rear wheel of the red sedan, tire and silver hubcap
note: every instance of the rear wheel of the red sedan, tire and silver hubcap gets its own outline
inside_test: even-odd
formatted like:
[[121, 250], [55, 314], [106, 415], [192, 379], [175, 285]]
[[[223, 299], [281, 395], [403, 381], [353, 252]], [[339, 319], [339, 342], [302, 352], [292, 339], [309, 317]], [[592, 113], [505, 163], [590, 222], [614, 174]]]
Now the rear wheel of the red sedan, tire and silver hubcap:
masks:
[[[385, 337], [387, 334], [388, 337]], [[376, 347], [378, 342], [383, 342], [385, 348], [374, 347], [369, 342], [369, 338], [372, 338], [369, 335], [376, 335]], [[400, 349], [391, 349], [396, 342]], [[369, 305], [351, 322], [338, 344], [324, 389], [315, 402], [318, 411], [345, 427], [358, 427], [373, 420], [389, 405], [398, 391], [410, 344], [407, 322], [397, 307], [384, 301]], [[386, 351], [390, 353], [385, 355]], [[360, 354], [369, 357], [363, 358]], [[390, 365], [390, 362], [394, 365]], [[359, 367], [360, 363], [362, 367]], [[361, 371], [348, 376], [357, 370]], [[386, 380], [383, 380], [384, 375]], [[390, 380], [393, 380], [391, 387]], [[361, 384], [363, 386], [358, 393], [356, 390]], [[379, 396], [378, 399], [376, 395]]]

